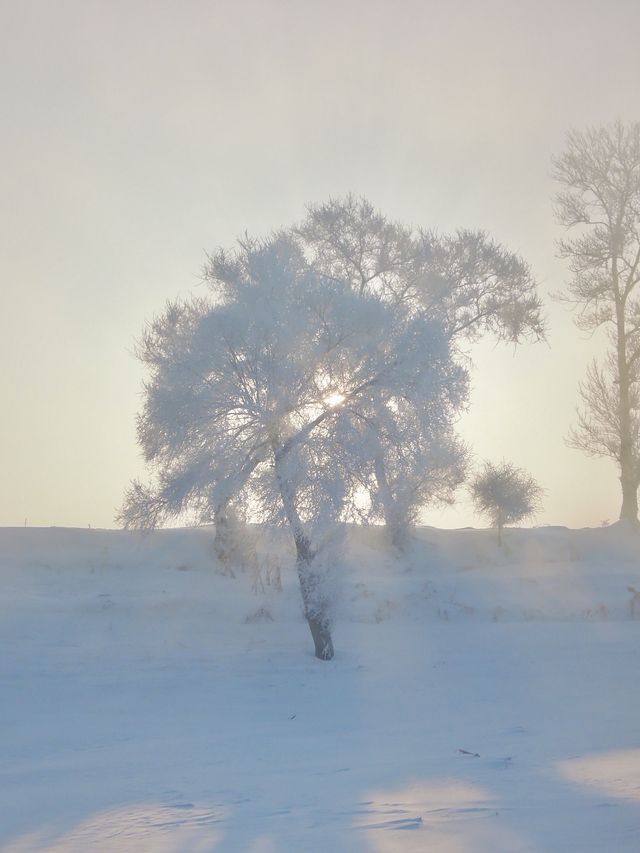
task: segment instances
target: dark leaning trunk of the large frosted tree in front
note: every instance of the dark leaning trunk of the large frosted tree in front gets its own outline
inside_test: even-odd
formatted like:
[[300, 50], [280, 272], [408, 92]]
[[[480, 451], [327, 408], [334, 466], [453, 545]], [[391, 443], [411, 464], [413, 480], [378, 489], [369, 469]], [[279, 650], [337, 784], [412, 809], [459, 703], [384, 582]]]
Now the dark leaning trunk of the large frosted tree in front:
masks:
[[298, 514], [293, 488], [279, 470], [280, 458], [278, 451], [275, 451], [274, 460], [278, 488], [296, 546], [296, 569], [300, 581], [304, 616], [311, 631], [316, 657], [319, 660], [331, 660], [333, 657], [331, 620], [327, 612], [325, 596], [320, 588], [321, 578], [313, 570], [315, 551], [311, 547], [311, 542], [304, 531], [302, 520]]

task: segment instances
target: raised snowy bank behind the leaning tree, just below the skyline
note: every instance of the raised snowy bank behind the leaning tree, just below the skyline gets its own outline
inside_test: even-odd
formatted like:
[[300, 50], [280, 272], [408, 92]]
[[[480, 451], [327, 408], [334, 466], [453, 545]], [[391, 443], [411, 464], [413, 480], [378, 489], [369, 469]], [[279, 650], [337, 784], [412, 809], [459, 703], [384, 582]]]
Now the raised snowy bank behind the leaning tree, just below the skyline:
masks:
[[[30, 571], [29, 594], [49, 596], [58, 583], [64, 601], [83, 590], [106, 599], [112, 588], [133, 606], [136, 600], [148, 603], [160, 590], [190, 606], [215, 609], [225, 621], [251, 617], [261, 606], [272, 617], [298, 617], [294, 554], [286, 531], [248, 528], [247, 559], [234, 567], [235, 578], [220, 575], [212, 539], [213, 530], [206, 526], [149, 534], [1, 528], [0, 571], [5, 592], [7, 584], [15, 584], [16, 595], [24, 593], [24, 572]], [[275, 571], [282, 594], [272, 583]], [[71, 574], [78, 577], [68, 585], [64, 580]], [[398, 559], [387, 548], [382, 528], [351, 527], [347, 556], [332, 580], [339, 621], [617, 620], [631, 615], [628, 587], [640, 589], [640, 543], [633, 531], [616, 525], [513, 529], [502, 548], [489, 530], [421, 528], [410, 553]], [[110, 606], [106, 600], [94, 604], [92, 609]], [[181, 606], [175, 599], [173, 605]]]

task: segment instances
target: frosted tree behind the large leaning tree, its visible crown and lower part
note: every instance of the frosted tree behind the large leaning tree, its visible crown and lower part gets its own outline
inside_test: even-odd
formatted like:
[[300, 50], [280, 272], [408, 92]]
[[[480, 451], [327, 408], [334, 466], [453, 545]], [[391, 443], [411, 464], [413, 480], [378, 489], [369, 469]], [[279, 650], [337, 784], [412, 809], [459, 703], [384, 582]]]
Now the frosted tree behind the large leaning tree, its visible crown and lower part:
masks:
[[[483, 334], [512, 343], [544, 336], [528, 265], [482, 231], [416, 231], [349, 195], [311, 206], [295, 233], [323, 275], [349, 281], [357, 293], [375, 293], [416, 315], [437, 318], [464, 361], [468, 345]], [[377, 413], [379, 433], [385, 432], [384, 419], [384, 412]], [[402, 453], [395, 447], [381, 442], [372, 498], [402, 549], [421, 507], [452, 500], [465, 476], [466, 449], [453, 437], [437, 450], [427, 450], [424, 442], [413, 453], [411, 442], [403, 444]]]

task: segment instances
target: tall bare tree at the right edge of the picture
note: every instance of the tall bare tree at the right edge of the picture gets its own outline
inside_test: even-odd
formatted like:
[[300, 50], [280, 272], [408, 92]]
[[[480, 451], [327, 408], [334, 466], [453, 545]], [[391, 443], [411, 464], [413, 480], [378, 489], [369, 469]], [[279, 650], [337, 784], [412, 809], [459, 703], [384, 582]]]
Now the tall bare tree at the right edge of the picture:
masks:
[[585, 405], [570, 444], [610, 456], [620, 469], [620, 518], [638, 524], [640, 360], [640, 123], [571, 131], [553, 161], [562, 186], [558, 220], [575, 233], [559, 243], [573, 278], [563, 295], [579, 306], [579, 328], [606, 326], [611, 359], [592, 366], [580, 395]]

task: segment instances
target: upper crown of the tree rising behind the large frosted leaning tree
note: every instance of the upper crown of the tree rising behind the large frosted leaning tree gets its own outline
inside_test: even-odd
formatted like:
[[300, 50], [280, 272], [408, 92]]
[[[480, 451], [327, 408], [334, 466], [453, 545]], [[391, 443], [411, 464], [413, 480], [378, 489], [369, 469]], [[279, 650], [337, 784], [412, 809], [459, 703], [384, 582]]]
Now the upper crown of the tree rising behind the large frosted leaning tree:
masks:
[[412, 229], [348, 195], [311, 205], [295, 232], [324, 275], [426, 309], [459, 347], [487, 332], [516, 344], [544, 337], [528, 264], [484, 231]]

